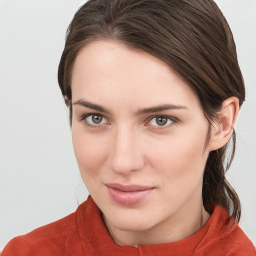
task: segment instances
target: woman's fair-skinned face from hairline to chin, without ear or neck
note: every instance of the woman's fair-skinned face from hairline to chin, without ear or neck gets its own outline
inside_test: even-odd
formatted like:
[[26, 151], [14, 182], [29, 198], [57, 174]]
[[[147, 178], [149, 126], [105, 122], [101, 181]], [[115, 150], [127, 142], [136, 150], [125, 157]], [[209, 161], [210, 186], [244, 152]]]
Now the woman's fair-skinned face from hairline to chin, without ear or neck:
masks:
[[80, 50], [72, 139], [89, 193], [120, 230], [147, 230], [201, 205], [208, 122], [162, 60], [110, 41]]

